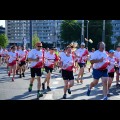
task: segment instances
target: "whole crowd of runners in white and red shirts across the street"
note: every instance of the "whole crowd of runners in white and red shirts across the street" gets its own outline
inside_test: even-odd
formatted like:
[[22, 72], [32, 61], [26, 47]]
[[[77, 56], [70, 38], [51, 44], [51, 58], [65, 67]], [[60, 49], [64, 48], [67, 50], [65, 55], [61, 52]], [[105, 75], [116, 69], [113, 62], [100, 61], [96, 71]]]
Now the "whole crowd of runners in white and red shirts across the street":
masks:
[[[79, 47], [78, 47], [79, 46]], [[15, 76], [20, 78], [25, 77], [26, 70], [30, 70], [31, 79], [28, 86], [28, 91], [32, 91], [35, 77], [37, 77], [37, 98], [42, 97], [41, 90], [50, 88], [50, 79], [53, 70], [59, 69], [64, 80], [63, 99], [67, 98], [67, 93], [71, 94], [71, 87], [74, 85], [74, 80], [77, 83], [83, 83], [84, 69], [87, 61], [90, 61], [88, 71], [92, 71], [93, 82], [86, 90], [86, 95], [90, 95], [91, 90], [102, 80], [103, 100], [108, 100], [109, 89], [111, 88], [114, 74], [116, 73], [116, 87], [120, 87], [120, 46], [116, 50], [105, 50], [105, 43], [99, 42], [97, 49], [92, 48], [89, 52], [85, 48], [85, 43], [78, 45], [71, 43], [64, 50], [58, 51], [54, 47], [44, 48], [41, 42], [36, 43], [34, 49], [26, 49], [24, 46], [11, 46], [8, 49], [0, 48], [0, 66], [6, 64], [8, 76], [12, 76], [12, 81], [15, 81]], [[42, 72], [45, 71], [46, 77], [41, 82]], [[74, 72], [78, 71], [78, 76], [74, 78]]]

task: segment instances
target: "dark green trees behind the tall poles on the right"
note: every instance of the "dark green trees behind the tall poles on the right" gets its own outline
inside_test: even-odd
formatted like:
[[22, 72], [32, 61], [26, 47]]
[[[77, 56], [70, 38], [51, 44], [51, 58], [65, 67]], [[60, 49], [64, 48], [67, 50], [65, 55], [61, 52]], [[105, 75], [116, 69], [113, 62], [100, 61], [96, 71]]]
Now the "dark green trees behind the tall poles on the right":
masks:
[[[113, 45], [111, 43], [111, 35], [112, 35], [112, 25], [111, 20], [105, 21], [105, 43], [106, 50], [113, 49]], [[88, 27], [88, 36], [89, 39], [93, 40], [93, 44], [89, 43], [89, 49], [92, 47], [97, 49], [98, 42], [102, 41], [102, 31], [103, 31], [103, 20], [89, 20]], [[85, 37], [87, 34], [86, 30], [86, 22], [85, 22]]]

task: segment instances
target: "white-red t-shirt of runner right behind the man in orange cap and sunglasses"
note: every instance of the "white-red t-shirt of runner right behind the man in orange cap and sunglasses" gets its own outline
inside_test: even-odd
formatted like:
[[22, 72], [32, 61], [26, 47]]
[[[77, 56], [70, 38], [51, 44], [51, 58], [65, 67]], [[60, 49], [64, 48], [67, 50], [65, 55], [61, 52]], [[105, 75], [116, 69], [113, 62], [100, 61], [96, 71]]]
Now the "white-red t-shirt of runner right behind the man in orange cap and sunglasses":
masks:
[[50, 54], [50, 52], [45, 53], [45, 66], [54, 68], [54, 62], [56, 60], [56, 55]]

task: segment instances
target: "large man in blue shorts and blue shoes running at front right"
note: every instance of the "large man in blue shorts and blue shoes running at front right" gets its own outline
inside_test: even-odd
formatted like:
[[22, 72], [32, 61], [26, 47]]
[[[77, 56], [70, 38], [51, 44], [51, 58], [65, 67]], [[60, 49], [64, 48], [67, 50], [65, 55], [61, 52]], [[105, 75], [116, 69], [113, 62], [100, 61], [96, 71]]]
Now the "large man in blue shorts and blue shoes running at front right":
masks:
[[96, 86], [99, 82], [99, 79], [102, 79], [103, 84], [103, 100], [107, 100], [107, 80], [108, 80], [108, 73], [107, 73], [107, 66], [109, 61], [107, 59], [107, 54], [105, 52], [105, 43], [100, 42], [98, 43], [98, 50], [94, 52], [92, 55], [90, 62], [93, 64], [93, 78], [94, 81], [91, 82], [87, 95], [90, 95], [91, 89]]

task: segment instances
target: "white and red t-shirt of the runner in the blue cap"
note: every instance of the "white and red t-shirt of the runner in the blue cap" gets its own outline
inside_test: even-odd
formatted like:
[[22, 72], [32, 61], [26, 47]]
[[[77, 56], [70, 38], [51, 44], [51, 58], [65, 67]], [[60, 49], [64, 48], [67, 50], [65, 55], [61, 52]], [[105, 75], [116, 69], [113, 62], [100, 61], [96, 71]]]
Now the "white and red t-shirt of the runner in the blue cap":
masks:
[[115, 57], [111, 58], [108, 56], [108, 60], [110, 62], [110, 65], [108, 65], [107, 69], [108, 69], [108, 73], [111, 73], [111, 72], [115, 72], [115, 64], [117, 63]]

